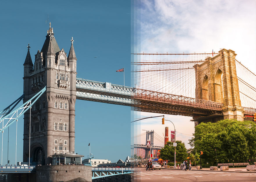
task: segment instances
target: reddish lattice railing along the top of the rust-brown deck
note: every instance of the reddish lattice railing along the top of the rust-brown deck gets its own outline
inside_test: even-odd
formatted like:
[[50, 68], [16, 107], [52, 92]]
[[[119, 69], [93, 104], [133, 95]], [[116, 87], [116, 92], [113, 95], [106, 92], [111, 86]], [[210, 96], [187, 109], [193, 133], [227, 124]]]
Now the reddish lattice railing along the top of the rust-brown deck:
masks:
[[134, 99], [145, 99], [145, 100], [175, 103], [180, 105], [190, 105], [193, 107], [206, 108], [206, 109], [218, 110], [218, 111], [221, 111], [223, 106], [223, 103], [218, 103], [214, 101], [184, 97], [182, 95], [154, 92], [150, 90], [134, 88], [133, 92], [134, 92]]

